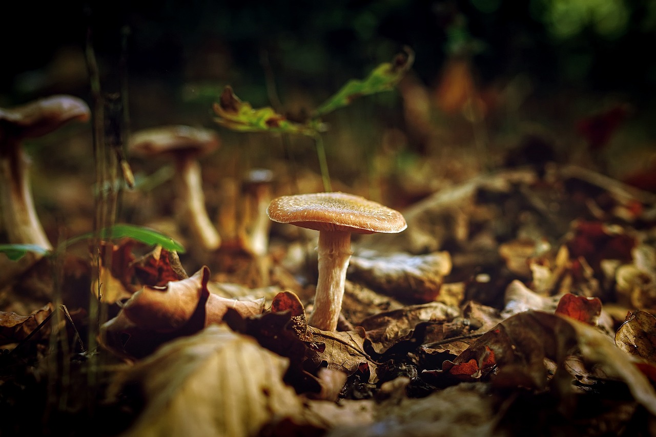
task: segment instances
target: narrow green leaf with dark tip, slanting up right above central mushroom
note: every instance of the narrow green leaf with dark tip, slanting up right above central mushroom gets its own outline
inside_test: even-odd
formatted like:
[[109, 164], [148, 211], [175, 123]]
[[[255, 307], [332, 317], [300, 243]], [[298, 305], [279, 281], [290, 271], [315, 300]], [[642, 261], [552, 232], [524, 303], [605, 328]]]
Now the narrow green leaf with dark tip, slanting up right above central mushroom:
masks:
[[409, 47], [405, 47], [405, 53], [397, 54], [392, 62], [383, 62], [374, 68], [364, 80], [351, 79], [348, 81], [337, 93], [317, 108], [313, 117], [321, 117], [337, 108], [348, 106], [358, 97], [391, 91], [410, 70], [414, 60], [414, 52]]

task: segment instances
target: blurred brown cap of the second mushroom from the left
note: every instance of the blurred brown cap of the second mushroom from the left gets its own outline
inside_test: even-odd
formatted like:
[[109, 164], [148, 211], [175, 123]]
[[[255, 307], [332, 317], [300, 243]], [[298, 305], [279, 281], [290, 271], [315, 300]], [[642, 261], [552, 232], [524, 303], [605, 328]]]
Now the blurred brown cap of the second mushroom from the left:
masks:
[[192, 154], [202, 156], [218, 148], [218, 135], [211, 129], [172, 125], [142, 129], [133, 133], [130, 151], [139, 156]]

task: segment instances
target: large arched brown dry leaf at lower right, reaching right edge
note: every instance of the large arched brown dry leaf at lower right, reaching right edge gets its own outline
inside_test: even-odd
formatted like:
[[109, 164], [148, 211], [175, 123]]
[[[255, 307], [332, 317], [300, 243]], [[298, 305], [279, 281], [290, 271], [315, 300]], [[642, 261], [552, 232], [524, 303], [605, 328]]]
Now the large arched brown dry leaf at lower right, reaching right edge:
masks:
[[[495, 366], [493, 382], [499, 386], [518, 385], [543, 389], [547, 375], [544, 358], [562, 368], [565, 359], [578, 350], [583, 361], [600, 366], [610, 377], [628, 386], [634, 399], [656, 414], [656, 391], [636, 368], [630, 356], [617, 348], [596, 328], [556, 314], [526, 311], [512, 316], [485, 333], [443, 371], [459, 379], [472, 380]], [[468, 366], [468, 367], [467, 367]], [[556, 375], [567, 375], [556, 372]], [[560, 390], [571, 392], [571, 381], [557, 381]]]

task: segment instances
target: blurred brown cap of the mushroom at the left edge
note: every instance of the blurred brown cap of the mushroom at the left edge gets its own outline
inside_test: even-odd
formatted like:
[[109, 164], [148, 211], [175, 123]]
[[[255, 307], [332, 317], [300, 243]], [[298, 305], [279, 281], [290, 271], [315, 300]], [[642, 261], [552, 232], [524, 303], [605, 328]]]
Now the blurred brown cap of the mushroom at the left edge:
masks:
[[57, 94], [15, 108], [0, 108], [0, 137], [37, 138], [68, 121], [87, 121], [91, 110], [81, 98]]

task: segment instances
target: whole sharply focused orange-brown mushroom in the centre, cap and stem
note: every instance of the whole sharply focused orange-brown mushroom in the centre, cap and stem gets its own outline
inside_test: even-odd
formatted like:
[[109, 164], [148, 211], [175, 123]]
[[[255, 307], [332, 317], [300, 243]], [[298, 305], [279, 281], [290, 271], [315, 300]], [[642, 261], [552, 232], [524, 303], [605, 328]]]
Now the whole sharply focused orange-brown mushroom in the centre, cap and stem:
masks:
[[400, 212], [341, 192], [281, 196], [271, 201], [267, 213], [274, 222], [319, 231], [319, 276], [308, 324], [323, 331], [337, 328], [352, 254], [351, 234], [395, 234], [407, 228]]

